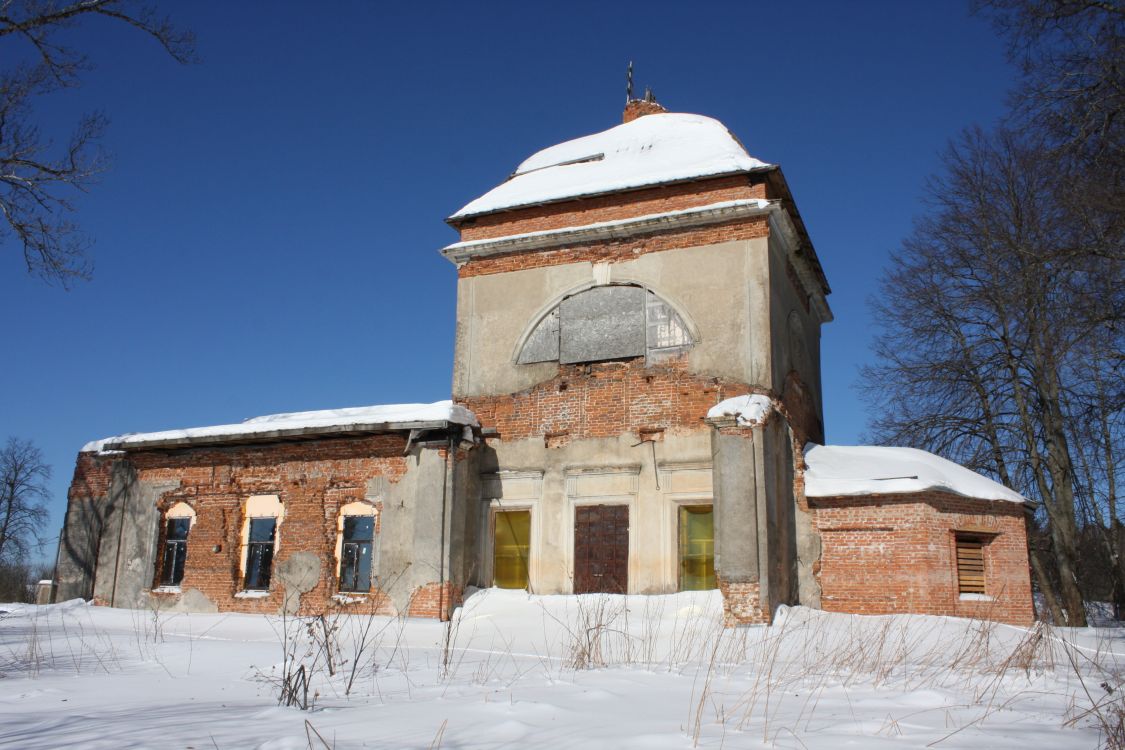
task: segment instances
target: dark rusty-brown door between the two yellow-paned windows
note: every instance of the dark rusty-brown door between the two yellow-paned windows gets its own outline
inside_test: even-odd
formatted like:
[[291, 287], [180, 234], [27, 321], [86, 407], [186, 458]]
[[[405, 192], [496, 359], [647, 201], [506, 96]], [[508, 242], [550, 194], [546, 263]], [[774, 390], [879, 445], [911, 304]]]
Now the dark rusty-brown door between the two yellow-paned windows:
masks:
[[580, 505], [574, 512], [574, 593], [629, 590], [629, 506]]

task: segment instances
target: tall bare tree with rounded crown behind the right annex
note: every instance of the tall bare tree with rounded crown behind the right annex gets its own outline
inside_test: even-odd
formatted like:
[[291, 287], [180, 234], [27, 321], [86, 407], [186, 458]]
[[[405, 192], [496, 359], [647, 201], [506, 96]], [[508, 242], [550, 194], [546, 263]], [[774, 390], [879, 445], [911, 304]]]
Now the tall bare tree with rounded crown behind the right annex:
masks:
[[881, 364], [864, 382], [876, 440], [934, 450], [1035, 501], [1036, 581], [1059, 621], [1082, 624], [1081, 526], [1105, 530], [1107, 553], [1125, 542], [1125, 287], [1119, 259], [1083, 251], [1084, 220], [1058, 200], [1065, 175], [1045, 153], [1008, 130], [951, 145], [883, 278]]

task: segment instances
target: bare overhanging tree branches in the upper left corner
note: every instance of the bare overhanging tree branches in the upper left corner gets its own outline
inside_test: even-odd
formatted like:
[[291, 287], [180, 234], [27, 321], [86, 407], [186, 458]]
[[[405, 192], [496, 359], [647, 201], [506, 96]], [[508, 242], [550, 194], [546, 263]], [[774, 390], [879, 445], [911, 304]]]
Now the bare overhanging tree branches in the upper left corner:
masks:
[[87, 238], [72, 199], [106, 168], [97, 148], [106, 128], [88, 115], [56, 147], [35, 120], [37, 97], [80, 84], [88, 58], [61, 40], [86, 19], [125, 24], [153, 37], [174, 60], [194, 60], [195, 38], [147, 4], [129, 0], [0, 0], [0, 242], [22, 246], [29, 273], [69, 286], [89, 277]]

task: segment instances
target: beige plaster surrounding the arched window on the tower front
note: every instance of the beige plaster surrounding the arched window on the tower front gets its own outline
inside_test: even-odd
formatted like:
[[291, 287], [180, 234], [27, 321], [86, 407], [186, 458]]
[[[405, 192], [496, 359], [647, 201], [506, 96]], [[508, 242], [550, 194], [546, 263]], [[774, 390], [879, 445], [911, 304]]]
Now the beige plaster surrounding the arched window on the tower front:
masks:
[[512, 394], [551, 378], [555, 363], [515, 364], [522, 337], [564, 296], [613, 282], [648, 287], [686, 317], [700, 337], [692, 371], [772, 387], [767, 246], [763, 237], [460, 279], [453, 394]]

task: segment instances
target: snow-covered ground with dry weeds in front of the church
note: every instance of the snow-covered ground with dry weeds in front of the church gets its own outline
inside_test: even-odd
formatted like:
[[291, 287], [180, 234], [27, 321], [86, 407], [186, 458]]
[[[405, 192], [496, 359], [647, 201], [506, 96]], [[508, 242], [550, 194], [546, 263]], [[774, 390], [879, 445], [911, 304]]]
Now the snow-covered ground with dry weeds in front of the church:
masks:
[[[449, 626], [0, 609], [0, 747], [28, 750], [1095, 748], [1125, 667], [1118, 629], [795, 607], [723, 630], [716, 593], [492, 589]], [[300, 666], [309, 711], [278, 705]]]

